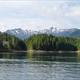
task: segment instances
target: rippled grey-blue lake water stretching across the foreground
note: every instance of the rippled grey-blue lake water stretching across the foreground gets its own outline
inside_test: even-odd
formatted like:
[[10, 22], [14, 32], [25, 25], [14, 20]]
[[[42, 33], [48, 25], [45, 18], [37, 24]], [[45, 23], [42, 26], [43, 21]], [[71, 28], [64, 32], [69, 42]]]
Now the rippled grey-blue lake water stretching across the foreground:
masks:
[[77, 56], [0, 55], [0, 80], [80, 80]]

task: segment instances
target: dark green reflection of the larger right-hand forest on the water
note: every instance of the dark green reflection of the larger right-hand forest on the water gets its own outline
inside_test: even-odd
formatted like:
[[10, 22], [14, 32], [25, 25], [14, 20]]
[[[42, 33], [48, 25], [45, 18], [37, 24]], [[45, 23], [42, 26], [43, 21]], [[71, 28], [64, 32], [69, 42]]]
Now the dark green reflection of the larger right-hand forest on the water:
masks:
[[[38, 60], [38, 61], [62, 61], [62, 62], [76, 62], [77, 61], [77, 53], [58, 53], [58, 52], [35, 52], [27, 53], [30, 54], [30, 58], [32, 60]], [[27, 56], [29, 58], [29, 56]]]

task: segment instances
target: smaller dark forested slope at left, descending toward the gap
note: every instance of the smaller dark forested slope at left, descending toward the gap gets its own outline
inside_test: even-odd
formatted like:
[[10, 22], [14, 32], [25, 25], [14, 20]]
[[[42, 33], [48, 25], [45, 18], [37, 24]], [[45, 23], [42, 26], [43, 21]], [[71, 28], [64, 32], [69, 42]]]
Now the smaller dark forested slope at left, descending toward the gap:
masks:
[[0, 33], [0, 51], [10, 50], [26, 50], [26, 45], [24, 41], [14, 36]]

